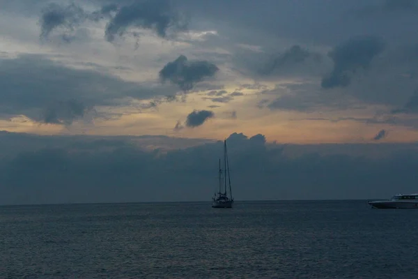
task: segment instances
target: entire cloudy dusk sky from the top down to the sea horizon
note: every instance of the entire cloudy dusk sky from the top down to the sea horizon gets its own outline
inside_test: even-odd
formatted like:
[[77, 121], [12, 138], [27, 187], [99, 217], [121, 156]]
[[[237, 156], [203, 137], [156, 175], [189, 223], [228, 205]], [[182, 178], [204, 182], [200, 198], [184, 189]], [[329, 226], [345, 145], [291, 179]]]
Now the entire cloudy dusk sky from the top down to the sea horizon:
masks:
[[0, 204], [415, 192], [416, 0], [0, 7]]

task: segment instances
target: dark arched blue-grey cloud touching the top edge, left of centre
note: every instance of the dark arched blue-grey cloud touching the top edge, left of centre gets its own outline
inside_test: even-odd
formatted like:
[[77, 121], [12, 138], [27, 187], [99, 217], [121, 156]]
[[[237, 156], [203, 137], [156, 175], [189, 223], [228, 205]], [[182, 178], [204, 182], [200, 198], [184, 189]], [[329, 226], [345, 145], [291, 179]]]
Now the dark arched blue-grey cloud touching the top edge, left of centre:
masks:
[[121, 7], [107, 23], [105, 37], [112, 42], [115, 36], [123, 36], [130, 27], [139, 27], [155, 29], [158, 36], [166, 38], [169, 30], [184, 31], [187, 24], [168, 0], [148, 0]]

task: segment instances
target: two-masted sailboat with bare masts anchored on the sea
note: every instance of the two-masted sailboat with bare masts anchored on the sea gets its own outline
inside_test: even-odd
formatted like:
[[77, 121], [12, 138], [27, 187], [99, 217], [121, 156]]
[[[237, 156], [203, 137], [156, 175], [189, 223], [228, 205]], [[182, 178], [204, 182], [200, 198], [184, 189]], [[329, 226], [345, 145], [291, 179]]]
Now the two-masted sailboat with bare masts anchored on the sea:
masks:
[[[224, 174], [222, 177], [222, 174]], [[222, 188], [222, 178], [224, 178], [224, 188]], [[221, 169], [221, 159], [219, 159], [219, 192], [212, 197], [212, 207], [220, 209], [231, 209], [233, 206], [233, 197], [231, 190], [231, 176], [229, 175], [228, 152], [226, 151], [226, 140], [224, 140], [224, 169]], [[227, 180], [228, 179], [228, 180]], [[227, 183], [229, 185], [229, 197], [227, 193]]]

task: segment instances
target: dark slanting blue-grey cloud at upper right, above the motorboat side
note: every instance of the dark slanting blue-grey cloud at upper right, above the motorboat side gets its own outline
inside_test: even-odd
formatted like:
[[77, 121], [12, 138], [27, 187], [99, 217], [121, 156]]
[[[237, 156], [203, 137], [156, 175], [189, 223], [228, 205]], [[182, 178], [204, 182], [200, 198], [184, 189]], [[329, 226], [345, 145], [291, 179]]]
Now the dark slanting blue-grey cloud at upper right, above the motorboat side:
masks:
[[350, 38], [337, 45], [328, 54], [334, 61], [334, 68], [330, 75], [323, 78], [321, 86], [325, 89], [348, 86], [357, 70], [367, 70], [373, 58], [384, 49], [385, 43], [376, 36]]

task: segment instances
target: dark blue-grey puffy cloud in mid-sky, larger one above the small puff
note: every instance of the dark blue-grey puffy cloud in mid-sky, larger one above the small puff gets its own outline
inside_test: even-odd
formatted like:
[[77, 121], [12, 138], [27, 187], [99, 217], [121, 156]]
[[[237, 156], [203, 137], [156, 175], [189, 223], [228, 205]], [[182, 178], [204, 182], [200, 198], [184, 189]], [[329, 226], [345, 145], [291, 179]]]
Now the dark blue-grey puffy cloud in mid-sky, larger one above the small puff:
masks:
[[178, 59], [167, 63], [160, 70], [160, 79], [162, 82], [169, 80], [177, 84], [183, 91], [189, 91], [194, 84], [203, 81], [206, 77], [212, 77], [219, 68], [208, 61], [187, 61], [184, 55], [178, 56]]

